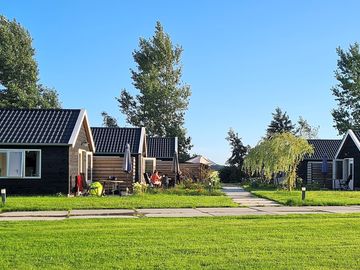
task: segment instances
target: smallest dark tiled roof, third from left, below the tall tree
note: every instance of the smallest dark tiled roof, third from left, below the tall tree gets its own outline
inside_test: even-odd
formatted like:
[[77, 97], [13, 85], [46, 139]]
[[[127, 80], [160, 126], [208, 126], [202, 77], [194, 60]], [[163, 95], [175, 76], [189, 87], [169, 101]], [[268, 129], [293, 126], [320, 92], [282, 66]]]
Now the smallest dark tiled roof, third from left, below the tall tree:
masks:
[[172, 158], [176, 147], [176, 138], [147, 137], [148, 157]]

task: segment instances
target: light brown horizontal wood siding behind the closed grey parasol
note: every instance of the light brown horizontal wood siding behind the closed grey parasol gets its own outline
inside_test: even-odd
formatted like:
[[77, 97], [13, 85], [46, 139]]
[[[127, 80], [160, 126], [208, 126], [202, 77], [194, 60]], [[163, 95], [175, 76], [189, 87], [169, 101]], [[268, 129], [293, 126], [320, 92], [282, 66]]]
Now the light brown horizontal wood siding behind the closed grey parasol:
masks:
[[[135, 168], [135, 158], [133, 157], [132, 160], [133, 168]], [[132, 190], [136, 170], [133, 170], [132, 175], [127, 174], [123, 171], [123, 163], [124, 158], [119, 156], [94, 156], [93, 181], [109, 179], [112, 176], [124, 181], [120, 184], [122, 190], [126, 190], [126, 188]]]

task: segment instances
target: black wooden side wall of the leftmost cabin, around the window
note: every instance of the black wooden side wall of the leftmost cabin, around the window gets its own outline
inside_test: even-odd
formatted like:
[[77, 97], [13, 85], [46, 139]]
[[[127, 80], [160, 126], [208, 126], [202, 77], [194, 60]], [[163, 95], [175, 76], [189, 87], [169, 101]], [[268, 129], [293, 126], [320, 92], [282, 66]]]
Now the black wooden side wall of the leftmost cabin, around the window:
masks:
[[67, 194], [68, 146], [0, 146], [2, 149], [40, 149], [41, 179], [0, 179], [0, 188], [11, 194]]

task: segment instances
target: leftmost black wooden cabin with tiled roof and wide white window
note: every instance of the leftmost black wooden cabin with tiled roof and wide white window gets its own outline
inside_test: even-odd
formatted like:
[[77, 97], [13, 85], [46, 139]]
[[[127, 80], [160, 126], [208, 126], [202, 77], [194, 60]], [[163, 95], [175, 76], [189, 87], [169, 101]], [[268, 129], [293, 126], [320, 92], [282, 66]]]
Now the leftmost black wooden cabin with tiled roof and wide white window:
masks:
[[71, 194], [92, 180], [95, 145], [85, 110], [0, 109], [0, 188]]

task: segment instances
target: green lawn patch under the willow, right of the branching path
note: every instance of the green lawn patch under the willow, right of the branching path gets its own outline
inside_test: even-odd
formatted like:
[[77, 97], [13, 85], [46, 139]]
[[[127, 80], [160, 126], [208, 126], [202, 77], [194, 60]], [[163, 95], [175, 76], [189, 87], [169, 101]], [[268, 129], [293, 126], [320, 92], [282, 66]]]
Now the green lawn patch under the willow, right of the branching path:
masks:
[[359, 191], [306, 191], [306, 200], [301, 200], [301, 191], [252, 190], [254, 195], [285, 205], [360, 205]]

